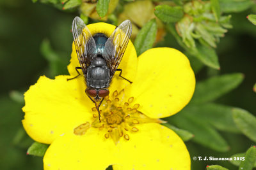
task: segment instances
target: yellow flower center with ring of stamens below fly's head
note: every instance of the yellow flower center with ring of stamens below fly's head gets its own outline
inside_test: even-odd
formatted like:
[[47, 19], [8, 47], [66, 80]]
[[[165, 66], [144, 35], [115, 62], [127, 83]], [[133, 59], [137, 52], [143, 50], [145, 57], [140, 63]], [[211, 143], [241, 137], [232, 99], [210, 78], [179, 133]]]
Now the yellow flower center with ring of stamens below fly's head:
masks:
[[[134, 132], [138, 132], [139, 129], [136, 127], [138, 124], [161, 123], [161, 120], [149, 118], [138, 111], [139, 108], [140, 104], [134, 103], [134, 97], [127, 99], [124, 90], [119, 93], [115, 91], [112, 95], [106, 97], [100, 106], [101, 122], [99, 122], [98, 114], [93, 114], [95, 120], [92, 127], [104, 131], [104, 138], [108, 139], [110, 137], [117, 144], [121, 138], [129, 140]], [[95, 107], [92, 110], [97, 112]]]

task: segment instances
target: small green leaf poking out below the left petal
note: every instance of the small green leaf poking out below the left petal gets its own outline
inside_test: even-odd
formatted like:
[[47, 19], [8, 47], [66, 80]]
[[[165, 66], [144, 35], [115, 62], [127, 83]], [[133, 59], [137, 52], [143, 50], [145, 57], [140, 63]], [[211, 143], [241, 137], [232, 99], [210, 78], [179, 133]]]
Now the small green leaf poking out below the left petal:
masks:
[[29, 148], [28, 148], [28, 155], [35, 155], [38, 157], [44, 157], [44, 153], [46, 152], [49, 145], [44, 143], [38, 143], [34, 142]]

